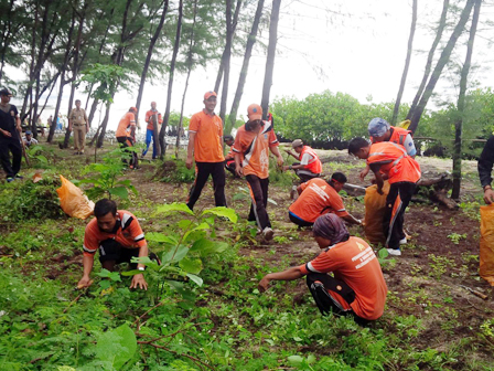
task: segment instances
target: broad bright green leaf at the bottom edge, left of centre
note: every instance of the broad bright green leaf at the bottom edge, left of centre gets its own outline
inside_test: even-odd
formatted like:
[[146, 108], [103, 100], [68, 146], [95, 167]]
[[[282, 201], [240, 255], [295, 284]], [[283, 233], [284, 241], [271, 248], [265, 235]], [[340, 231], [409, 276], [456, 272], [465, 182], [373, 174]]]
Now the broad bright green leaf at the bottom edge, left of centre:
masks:
[[128, 325], [122, 325], [99, 337], [96, 344], [96, 358], [109, 362], [119, 370], [133, 357], [136, 350], [136, 335]]

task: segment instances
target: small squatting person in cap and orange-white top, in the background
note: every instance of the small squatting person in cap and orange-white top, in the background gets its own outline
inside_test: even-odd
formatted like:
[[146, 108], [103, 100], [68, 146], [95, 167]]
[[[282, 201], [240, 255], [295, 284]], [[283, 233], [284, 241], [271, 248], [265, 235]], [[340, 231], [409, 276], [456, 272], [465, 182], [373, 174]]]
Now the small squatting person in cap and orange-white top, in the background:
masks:
[[313, 178], [319, 178], [322, 172], [322, 163], [315, 151], [304, 146], [302, 139], [296, 139], [291, 144], [296, 153], [291, 150], [284, 150], [288, 155], [293, 156], [298, 161], [290, 166], [283, 166], [283, 170], [294, 170], [300, 180], [307, 182]]

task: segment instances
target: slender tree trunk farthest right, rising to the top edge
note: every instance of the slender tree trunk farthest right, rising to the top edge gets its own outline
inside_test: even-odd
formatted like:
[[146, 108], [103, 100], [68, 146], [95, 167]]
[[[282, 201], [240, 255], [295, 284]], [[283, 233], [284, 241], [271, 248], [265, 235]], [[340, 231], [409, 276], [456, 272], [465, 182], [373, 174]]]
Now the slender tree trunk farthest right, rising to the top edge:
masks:
[[453, 189], [451, 198], [458, 200], [460, 198], [461, 188], [461, 152], [462, 152], [462, 129], [463, 117], [465, 110], [466, 82], [469, 77], [470, 66], [472, 64], [473, 42], [475, 41], [476, 26], [479, 24], [479, 15], [481, 12], [482, 0], [475, 0], [473, 8], [472, 25], [470, 28], [469, 43], [466, 47], [465, 63], [461, 70], [460, 94], [458, 96], [458, 120], [454, 124], [454, 148], [453, 148]]

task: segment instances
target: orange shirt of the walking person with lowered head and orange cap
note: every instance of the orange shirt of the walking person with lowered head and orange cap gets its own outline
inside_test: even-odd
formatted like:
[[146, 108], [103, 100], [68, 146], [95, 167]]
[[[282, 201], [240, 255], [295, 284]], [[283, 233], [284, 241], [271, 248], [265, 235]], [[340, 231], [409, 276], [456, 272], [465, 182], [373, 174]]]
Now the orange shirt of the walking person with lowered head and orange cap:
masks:
[[245, 176], [254, 174], [266, 179], [269, 177], [269, 148], [279, 145], [271, 123], [262, 121], [258, 134], [250, 131], [247, 123], [237, 130], [232, 149], [240, 153]]

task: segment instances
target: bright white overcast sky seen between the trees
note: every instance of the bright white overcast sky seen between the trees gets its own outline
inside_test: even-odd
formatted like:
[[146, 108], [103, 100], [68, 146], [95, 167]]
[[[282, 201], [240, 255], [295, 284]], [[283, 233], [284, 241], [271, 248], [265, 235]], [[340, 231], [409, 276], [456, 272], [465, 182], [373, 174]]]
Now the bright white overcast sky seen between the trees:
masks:
[[[269, 6], [270, 2], [266, 0]], [[271, 100], [282, 96], [304, 98], [309, 94], [330, 89], [333, 93], [351, 94], [362, 103], [368, 96], [373, 97], [374, 103], [391, 102], [396, 98], [407, 53], [411, 0], [332, 1], [331, 9], [329, 2], [282, 1]], [[427, 52], [433, 39], [428, 28], [439, 19], [441, 7], [442, 0], [419, 0], [415, 52], [402, 102], [411, 102], [420, 83]], [[481, 22], [491, 12], [485, 7], [483, 10], [485, 15], [481, 14]], [[491, 50], [485, 41], [485, 34], [490, 31], [481, 29], [481, 32], [484, 32], [484, 38], [476, 40], [473, 62], [482, 65], [482, 68], [474, 71], [471, 78], [480, 81], [482, 86], [493, 86], [493, 74], [488, 71], [488, 65], [492, 64], [488, 55]], [[443, 39], [447, 40], [449, 35], [450, 31]], [[261, 38], [267, 40], [268, 36], [268, 30], [264, 31]], [[463, 61], [464, 49], [454, 56], [459, 63]], [[243, 56], [233, 60], [227, 112], [230, 109], [241, 62]], [[249, 104], [260, 104], [265, 64], [266, 55], [254, 53], [239, 107], [243, 116]], [[185, 115], [190, 116], [203, 108], [204, 92], [214, 87], [216, 72], [217, 64], [212, 64], [206, 70], [197, 68], [192, 73]], [[441, 76], [443, 82], [437, 93], [443, 100], [454, 99], [454, 86], [449, 78], [451, 76], [452, 74]], [[164, 76], [155, 85], [146, 85], [141, 121], [151, 100], [155, 100], [158, 109], [164, 112], [167, 81], [168, 76]], [[184, 76], [178, 76], [173, 85], [172, 110], [180, 112], [183, 87]], [[56, 92], [53, 95], [56, 96]], [[116, 95], [110, 114], [110, 129], [116, 128], [120, 117], [135, 102], [136, 94], [122, 92]], [[219, 110], [219, 103], [216, 110]], [[52, 113], [53, 109], [47, 109], [43, 113], [43, 119]], [[96, 119], [99, 117], [96, 116]]]

